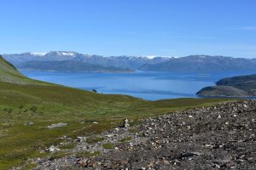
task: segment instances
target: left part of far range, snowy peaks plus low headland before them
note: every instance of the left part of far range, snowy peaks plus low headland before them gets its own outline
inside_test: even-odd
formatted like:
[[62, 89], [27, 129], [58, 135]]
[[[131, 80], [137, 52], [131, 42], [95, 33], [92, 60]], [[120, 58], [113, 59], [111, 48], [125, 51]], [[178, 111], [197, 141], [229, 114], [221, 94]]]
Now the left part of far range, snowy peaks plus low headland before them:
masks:
[[[168, 60], [168, 58], [164, 57], [156, 57], [154, 59], [131, 56], [103, 57], [102, 55], [79, 54], [67, 51], [52, 51], [47, 54], [3, 54], [3, 57], [18, 69], [44, 71], [55, 71], [57, 67], [56, 71], [79, 71], [79, 69], [74, 68], [79, 67], [81, 68], [80, 71], [126, 72], [137, 70], [145, 64], [157, 64]], [[69, 65], [67, 65], [67, 61], [73, 62], [68, 62]]]

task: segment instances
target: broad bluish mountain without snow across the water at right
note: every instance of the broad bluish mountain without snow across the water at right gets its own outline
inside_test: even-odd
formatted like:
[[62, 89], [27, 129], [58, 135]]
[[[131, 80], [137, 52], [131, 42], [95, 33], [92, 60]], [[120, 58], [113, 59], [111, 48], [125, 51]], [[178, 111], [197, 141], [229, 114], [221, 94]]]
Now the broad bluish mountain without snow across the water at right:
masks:
[[256, 71], [256, 59], [231, 58], [223, 56], [191, 55], [172, 58], [155, 65], [143, 65], [142, 71]]

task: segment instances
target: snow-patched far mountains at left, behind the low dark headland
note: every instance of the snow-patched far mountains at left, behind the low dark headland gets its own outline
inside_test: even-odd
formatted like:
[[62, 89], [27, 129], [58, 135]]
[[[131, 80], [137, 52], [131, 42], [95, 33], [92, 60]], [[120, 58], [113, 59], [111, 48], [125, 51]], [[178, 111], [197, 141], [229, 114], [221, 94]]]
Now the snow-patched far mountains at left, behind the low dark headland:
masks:
[[168, 58], [154, 57], [148, 59], [144, 56], [110, 56], [79, 54], [71, 51], [51, 51], [49, 53], [3, 54], [4, 58], [19, 68], [28, 61], [80, 61], [94, 65], [114, 66], [124, 69], [136, 70], [145, 64], [157, 64]]

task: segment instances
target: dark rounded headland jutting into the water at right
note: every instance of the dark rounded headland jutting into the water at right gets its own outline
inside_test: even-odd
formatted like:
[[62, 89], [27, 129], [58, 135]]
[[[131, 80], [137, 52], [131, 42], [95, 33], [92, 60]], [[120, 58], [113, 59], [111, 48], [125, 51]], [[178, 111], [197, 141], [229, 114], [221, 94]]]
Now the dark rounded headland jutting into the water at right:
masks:
[[223, 97], [255, 97], [256, 75], [221, 79], [216, 86], [202, 88], [197, 95]]

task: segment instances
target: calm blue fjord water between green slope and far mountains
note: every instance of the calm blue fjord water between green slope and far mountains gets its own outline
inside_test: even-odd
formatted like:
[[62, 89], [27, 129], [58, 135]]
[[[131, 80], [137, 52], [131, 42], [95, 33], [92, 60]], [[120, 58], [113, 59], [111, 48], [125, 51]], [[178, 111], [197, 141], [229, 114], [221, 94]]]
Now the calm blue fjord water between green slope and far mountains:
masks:
[[21, 71], [26, 77], [54, 82], [85, 90], [96, 89], [102, 94], [127, 94], [142, 99], [195, 98], [201, 88], [212, 86], [219, 79], [248, 73], [215, 74], [143, 72], [77, 73], [52, 71]]

